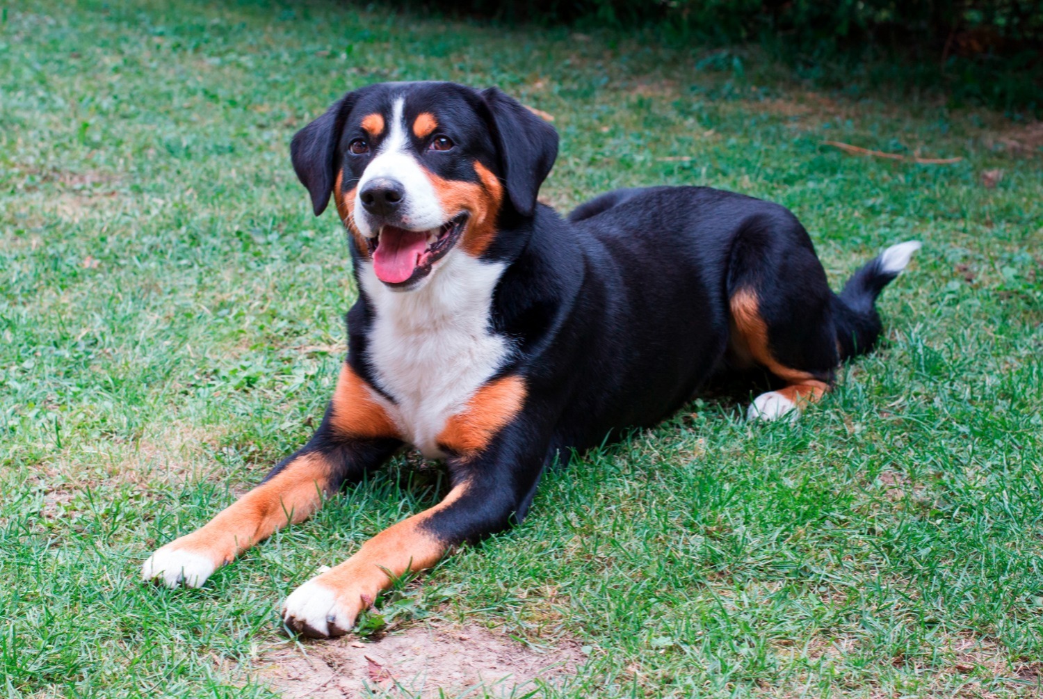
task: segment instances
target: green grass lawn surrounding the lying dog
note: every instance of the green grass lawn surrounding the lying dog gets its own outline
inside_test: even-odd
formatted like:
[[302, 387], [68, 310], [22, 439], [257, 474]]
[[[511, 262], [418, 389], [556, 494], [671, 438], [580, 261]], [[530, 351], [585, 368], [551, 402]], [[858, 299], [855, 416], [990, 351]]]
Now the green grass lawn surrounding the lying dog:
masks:
[[1043, 695], [1043, 167], [997, 145], [1014, 125], [608, 32], [318, 1], [0, 11], [4, 696], [270, 696], [251, 669], [286, 644], [281, 599], [434, 502], [437, 472], [402, 460], [201, 590], [138, 579], [332, 390], [356, 291], [290, 137], [350, 88], [428, 78], [553, 114], [558, 207], [660, 183], [775, 199], [834, 284], [924, 248], [881, 300], [887, 345], [799, 425], [697, 402], [584, 455], [411, 585], [414, 617], [578, 638], [590, 662], [547, 697]]

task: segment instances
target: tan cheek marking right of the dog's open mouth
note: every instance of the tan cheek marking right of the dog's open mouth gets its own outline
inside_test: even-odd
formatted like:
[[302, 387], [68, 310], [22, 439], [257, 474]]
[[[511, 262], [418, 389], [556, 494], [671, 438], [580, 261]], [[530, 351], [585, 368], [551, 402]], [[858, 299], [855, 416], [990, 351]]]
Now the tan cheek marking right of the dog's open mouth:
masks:
[[504, 186], [488, 168], [475, 161], [479, 182], [461, 182], [439, 177], [427, 171], [432, 186], [448, 218], [466, 211], [470, 214], [460, 247], [471, 257], [479, 257], [496, 236], [496, 216], [504, 200]]

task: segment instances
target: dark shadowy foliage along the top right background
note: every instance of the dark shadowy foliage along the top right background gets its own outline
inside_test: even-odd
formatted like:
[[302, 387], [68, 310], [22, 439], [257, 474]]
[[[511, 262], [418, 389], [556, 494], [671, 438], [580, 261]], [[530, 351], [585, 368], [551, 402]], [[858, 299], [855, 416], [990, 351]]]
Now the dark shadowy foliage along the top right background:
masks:
[[827, 87], [937, 89], [953, 104], [1043, 112], [1043, 0], [429, 0], [503, 22], [630, 26], [657, 41], [755, 44]]

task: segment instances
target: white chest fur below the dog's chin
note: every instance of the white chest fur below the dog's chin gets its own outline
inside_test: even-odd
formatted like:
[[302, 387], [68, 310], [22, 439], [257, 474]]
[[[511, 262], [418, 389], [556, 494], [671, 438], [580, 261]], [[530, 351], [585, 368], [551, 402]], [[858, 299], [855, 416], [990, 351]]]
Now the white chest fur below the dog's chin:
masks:
[[360, 281], [373, 304], [367, 359], [380, 387], [394, 397], [386, 409], [406, 441], [429, 458], [443, 456], [437, 437], [452, 415], [510, 353], [489, 332], [492, 292], [502, 263], [455, 251], [416, 291], [392, 291], [363, 263]]

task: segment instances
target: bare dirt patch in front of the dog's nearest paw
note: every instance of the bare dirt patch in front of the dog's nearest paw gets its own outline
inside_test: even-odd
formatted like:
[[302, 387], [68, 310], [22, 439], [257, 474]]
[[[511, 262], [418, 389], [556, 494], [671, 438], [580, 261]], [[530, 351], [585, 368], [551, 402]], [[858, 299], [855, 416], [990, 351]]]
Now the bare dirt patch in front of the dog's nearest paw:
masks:
[[375, 642], [347, 636], [306, 649], [307, 656], [287, 647], [263, 658], [261, 678], [286, 699], [514, 697], [557, 683], [586, 659], [575, 642], [537, 652], [478, 626], [413, 627]]

